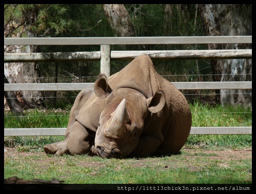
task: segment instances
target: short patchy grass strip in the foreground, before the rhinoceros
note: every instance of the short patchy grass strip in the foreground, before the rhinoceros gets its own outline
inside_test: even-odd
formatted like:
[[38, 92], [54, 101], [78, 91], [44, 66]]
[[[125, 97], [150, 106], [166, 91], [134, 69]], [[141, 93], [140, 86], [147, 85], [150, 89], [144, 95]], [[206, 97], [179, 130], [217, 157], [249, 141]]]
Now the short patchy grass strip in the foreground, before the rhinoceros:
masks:
[[[34, 152], [33, 152], [34, 153]], [[190, 156], [190, 158], [188, 158]], [[145, 159], [102, 159], [89, 156], [54, 157], [31, 154], [5, 158], [5, 178], [65, 180], [65, 183], [206, 184], [251, 183], [251, 159], [209, 160], [212, 154]], [[47, 162], [46, 162], [47, 161]]]

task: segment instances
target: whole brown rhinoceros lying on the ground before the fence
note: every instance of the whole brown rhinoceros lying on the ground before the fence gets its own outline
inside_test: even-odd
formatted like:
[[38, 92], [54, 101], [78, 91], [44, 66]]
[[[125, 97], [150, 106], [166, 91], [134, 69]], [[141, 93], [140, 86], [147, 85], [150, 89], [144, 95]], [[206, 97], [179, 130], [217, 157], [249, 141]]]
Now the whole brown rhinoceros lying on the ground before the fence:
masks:
[[150, 157], [180, 151], [191, 128], [183, 94], [140, 55], [94, 87], [82, 90], [70, 112], [65, 140], [45, 153], [102, 158]]

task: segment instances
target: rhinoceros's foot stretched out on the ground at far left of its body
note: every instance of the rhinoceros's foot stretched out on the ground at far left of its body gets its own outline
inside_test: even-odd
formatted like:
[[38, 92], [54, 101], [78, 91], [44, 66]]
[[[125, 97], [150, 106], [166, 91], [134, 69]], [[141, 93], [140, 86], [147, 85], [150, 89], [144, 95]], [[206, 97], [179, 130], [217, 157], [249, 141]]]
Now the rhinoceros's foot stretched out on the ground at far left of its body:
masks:
[[63, 154], [69, 154], [69, 150], [67, 148], [67, 142], [66, 141], [61, 141], [61, 142], [45, 145], [44, 150], [45, 150], [46, 154], [53, 154], [55, 156], [61, 156]]

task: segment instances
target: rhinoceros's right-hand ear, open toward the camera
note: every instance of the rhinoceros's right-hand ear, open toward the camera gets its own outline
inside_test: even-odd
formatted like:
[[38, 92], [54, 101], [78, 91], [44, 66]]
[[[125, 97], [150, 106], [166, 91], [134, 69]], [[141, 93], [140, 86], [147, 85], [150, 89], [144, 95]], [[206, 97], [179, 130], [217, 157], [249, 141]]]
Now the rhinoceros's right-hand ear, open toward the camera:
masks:
[[152, 113], [157, 113], [163, 109], [165, 98], [163, 91], [158, 91], [153, 97], [146, 99], [147, 109]]

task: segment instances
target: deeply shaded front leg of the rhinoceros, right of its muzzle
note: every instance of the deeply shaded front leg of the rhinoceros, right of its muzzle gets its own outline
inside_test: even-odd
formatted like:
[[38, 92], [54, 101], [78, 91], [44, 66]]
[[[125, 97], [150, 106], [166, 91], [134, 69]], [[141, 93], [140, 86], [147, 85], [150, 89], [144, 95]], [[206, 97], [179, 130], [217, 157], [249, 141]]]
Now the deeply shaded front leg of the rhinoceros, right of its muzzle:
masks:
[[139, 139], [135, 150], [130, 154], [131, 157], [149, 157], [155, 154], [161, 141], [153, 136], [144, 136]]

